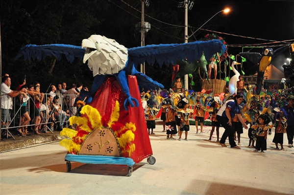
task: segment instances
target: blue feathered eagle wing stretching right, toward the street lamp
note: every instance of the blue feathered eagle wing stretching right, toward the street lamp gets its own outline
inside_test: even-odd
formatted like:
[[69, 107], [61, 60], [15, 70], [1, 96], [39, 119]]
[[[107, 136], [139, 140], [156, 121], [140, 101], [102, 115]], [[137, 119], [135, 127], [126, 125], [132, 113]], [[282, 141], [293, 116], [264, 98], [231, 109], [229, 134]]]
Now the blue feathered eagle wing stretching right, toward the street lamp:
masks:
[[225, 52], [225, 45], [220, 40], [196, 41], [180, 44], [158, 44], [133, 47], [128, 49], [128, 65], [133, 63], [136, 67], [144, 64], [153, 65], [155, 61], [160, 67], [175, 64], [177, 60], [187, 60], [194, 63], [199, 60], [202, 54], [209, 59], [219, 52]]

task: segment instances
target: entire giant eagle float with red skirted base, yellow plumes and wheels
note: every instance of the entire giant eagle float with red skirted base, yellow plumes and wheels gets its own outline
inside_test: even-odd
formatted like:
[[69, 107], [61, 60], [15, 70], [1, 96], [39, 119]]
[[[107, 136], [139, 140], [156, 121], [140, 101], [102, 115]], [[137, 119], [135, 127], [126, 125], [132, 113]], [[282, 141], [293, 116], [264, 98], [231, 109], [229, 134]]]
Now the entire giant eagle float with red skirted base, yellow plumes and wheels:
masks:
[[68, 171], [70, 161], [125, 164], [131, 171], [133, 164], [148, 156], [148, 162], [155, 163], [150, 155], [152, 150], [139, 87], [163, 87], [138, 72], [136, 67], [145, 62], [153, 65], [155, 61], [160, 67], [181, 60], [195, 63], [202, 55], [208, 61], [222, 51], [225, 45], [220, 40], [126, 48], [115, 40], [92, 35], [82, 40], [82, 47], [29, 44], [21, 48], [16, 58], [24, 56], [25, 60], [40, 61], [46, 56], [55, 56], [60, 60], [65, 55], [71, 63], [75, 57], [83, 59], [93, 71], [91, 98], [87, 98], [92, 101], [81, 108], [81, 116], [70, 118], [70, 124], [76, 124], [75, 130], [64, 128], [60, 132], [71, 138], [60, 141], [68, 150], [65, 157]]

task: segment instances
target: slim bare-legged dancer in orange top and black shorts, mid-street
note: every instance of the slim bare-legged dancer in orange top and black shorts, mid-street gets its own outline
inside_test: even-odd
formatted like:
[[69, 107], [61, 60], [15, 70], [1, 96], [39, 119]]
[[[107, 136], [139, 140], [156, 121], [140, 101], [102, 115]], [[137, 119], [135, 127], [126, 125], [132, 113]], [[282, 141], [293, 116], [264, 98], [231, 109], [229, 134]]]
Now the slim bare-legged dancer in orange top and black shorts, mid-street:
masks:
[[200, 123], [200, 134], [203, 132], [203, 123], [204, 123], [204, 108], [203, 104], [200, 101], [202, 97], [202, 93], [197, 93], [196, 104], [194, 106], [194, 116], [195, 116], [195, 126], [196, 126], [196, 133], [198, 133], [198, 122]]

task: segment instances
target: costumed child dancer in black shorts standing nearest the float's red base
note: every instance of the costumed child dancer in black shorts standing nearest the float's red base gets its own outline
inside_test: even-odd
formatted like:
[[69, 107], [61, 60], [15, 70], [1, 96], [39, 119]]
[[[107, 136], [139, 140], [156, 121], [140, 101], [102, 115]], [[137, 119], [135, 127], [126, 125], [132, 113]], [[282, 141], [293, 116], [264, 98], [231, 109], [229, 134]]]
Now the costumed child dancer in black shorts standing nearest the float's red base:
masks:
[[146, 119], [147, 119], [147, 129], [148, 134], [150, 135], [150, 129], [151, 129], [151, 135], [154, 135], [153, 129], [155, 129], [155, 116], [157, 112], [159, 111], [156, 106], [156, 100], [155, 100], [155, 94], [154, 92], [150, 93], [150, 98], [147, 100], [147, 108], [146, 108]]

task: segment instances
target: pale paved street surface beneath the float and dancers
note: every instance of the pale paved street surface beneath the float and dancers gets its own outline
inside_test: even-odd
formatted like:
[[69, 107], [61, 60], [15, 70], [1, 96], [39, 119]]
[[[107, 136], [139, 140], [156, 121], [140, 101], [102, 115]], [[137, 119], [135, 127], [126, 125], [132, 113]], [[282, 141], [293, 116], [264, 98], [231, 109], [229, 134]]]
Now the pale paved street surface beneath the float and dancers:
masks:
[[286, 134], [287, 151], [274, 150], [273, 133], [261, 153], [246, 147], [245, 129], [241, 150], [221, 147], [215, 134], [208, 141], [210, 126], [203, 134], [190, 126], [189, 141], [167, 140], [162, 130], [157, 123], [149, 136], [156, 163], [144, 159], [131, 176], [125, 176], [127, 166], [79, 162], [67, 173], [67, 151], [57, 141], [0, 153], [0, 194], [294, 195], [294, 148], [287, 147]]

